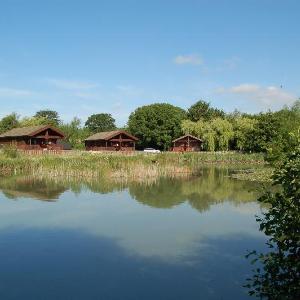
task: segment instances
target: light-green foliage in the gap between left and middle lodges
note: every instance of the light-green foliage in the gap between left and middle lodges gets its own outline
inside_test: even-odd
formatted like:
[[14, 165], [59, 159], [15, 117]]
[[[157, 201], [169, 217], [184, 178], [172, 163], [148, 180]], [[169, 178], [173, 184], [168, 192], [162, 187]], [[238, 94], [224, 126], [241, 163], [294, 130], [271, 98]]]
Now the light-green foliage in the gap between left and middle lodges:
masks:
[[81, 121], [74, 118], [70, 123], [65, 123], [60, 126], [60, 129], [65, 134], [65, 140], [70, 143], [74, 149], [84, 149], [84, 140], [90, 135], [87, 128], [81, 127]]

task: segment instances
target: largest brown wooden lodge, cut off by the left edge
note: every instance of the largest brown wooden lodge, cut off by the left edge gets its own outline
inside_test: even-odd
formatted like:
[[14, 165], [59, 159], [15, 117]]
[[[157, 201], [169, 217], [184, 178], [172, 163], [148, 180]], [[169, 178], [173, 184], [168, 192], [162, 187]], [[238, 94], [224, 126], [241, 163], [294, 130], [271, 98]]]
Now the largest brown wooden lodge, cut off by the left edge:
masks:
[[20, 150], [62, 150], [57, 142], [64, 134], [48, 125], [11, 129], [0, 135], [0, 146], [14, 145]]

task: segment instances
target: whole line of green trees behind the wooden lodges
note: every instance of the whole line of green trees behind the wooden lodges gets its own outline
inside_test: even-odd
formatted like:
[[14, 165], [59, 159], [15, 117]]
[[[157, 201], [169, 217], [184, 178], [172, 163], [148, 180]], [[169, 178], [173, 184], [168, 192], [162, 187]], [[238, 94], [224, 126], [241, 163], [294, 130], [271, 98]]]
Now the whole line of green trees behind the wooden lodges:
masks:
[[[15, 127], [50, 124], [66, 134], [66, 141], [74, 148], [83, 148], [89, 135], [117, 129], [111, 114], [91, 115], [83, 124], [75, 117], [63, 122], [52, 110], [41, 110], [32, 117], [19, 118], [16, 113], [0, 120], [0, 133]], [[284, 153], [291, 146], [292, 135], [300, 127], [300, 100], [279, 111], [247, 114], [235, 110], [225, 113], [210, 103], [200, 100], [184, 110], [167, 103], [154, 103], [138, 107], [129, 116], [126, 126], [139, 138], [138, 147], [168, 150], [172, 140], [191, 134], [203, 140], [203, 150], [267, 152], [270, 157]]]

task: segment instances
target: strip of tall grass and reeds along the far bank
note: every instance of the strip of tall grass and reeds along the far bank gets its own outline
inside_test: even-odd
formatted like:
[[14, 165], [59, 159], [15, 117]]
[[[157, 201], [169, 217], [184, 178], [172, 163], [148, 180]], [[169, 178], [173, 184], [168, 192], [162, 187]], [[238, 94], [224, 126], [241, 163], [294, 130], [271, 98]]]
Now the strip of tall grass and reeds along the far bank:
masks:
[[30, 156], [18, 153], [15, 157], [0, 154], [0, 175], [47, 175], [74, 177], [149, 178], [196, 174], [201, 165], [263, 164], [261, 154], [224, 153], [160, 153], [131, 155], [122, 153], [69, 152], [62, 155]]

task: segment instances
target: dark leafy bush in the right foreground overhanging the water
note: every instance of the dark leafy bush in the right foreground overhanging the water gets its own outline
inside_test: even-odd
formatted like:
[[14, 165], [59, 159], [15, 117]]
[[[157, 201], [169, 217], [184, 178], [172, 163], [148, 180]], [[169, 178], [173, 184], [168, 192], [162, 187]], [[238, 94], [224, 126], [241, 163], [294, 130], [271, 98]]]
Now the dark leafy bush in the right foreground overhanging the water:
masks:
[[269, 240], [270, 252], [257, 254], [261, 266], [249, 278], [249, 293], [261, 299], [300, 299], [300, 143], [273, 176], [276, 193], [266, 192], [259, 201], [269, 206], [257, 217]]

